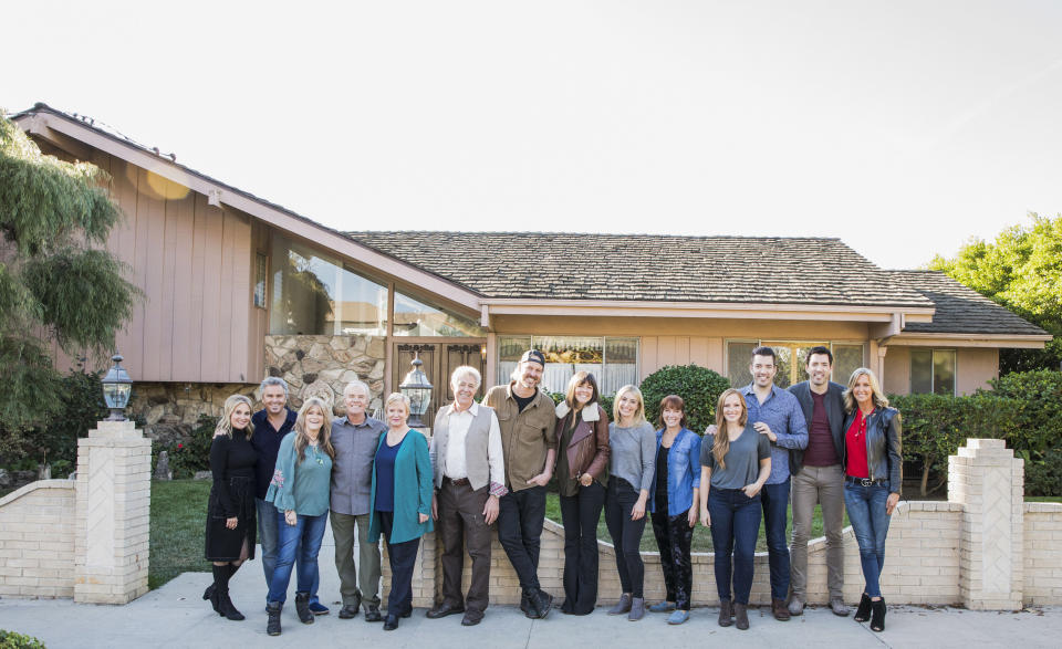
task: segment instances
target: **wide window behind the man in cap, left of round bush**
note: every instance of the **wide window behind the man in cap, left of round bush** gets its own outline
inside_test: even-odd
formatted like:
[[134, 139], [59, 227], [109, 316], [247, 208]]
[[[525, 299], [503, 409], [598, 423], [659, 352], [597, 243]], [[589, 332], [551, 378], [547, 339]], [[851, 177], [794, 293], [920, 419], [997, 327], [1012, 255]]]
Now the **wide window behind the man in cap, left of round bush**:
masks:
[[530, 348], [545, 355], [542, 388], [551, 392], [563, 392], [576, 371], [592, 373], [603, 395], [638, 383], [638, 338], [601, 336], [498, 336], [499, 380], [508, 380]]

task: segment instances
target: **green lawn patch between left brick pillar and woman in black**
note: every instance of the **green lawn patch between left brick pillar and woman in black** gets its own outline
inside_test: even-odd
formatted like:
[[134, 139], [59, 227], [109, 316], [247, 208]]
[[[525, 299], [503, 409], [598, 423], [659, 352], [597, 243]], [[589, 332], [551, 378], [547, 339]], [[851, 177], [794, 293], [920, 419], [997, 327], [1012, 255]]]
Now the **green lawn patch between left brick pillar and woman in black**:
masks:
[[181, 573], [206, 573], [202, 558], [209, 480], [152, 482], [150, 563], [153, 590]]

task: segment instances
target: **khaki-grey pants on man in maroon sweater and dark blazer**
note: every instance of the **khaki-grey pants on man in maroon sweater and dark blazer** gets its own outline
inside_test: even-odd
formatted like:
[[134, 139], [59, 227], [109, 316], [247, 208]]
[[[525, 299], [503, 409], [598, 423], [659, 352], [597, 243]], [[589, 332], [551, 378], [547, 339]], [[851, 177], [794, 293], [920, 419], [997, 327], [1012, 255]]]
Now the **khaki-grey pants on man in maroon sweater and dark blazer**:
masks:
[[832, 467], [803, 467], [793, 475], [793, 595], [806, 603], [808, 538], [815, 504], [822, 505], [822, 527], [826, 535], [826, 586], [830, 597], [842, 597], [844, 590], [844, 546], [841, 526], [844, 523], [844, 470]]

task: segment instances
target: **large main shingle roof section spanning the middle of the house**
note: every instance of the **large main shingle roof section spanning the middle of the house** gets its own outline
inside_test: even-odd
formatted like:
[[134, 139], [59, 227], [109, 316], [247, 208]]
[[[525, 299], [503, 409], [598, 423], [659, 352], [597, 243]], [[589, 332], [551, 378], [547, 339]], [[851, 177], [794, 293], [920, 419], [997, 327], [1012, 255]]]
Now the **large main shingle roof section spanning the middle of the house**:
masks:
[[837, 239], [347, 232], [485, 297], [928, 308]]

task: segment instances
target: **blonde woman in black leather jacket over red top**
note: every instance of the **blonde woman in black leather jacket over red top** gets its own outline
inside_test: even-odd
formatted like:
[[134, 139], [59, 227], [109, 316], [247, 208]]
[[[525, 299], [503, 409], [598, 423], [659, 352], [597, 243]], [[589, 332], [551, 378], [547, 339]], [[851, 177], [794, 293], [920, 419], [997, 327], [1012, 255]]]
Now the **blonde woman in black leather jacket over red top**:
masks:
[[861, 367], [852, 373], [844, 392], [844, 505], [860, 545], [866, 587], [855, 621], [871, 620], [871, 629], [885, 629], [882, 565], [888, 520], [899, 502], [903, 481], [899, 411], [888, 407], [874, 373]]

